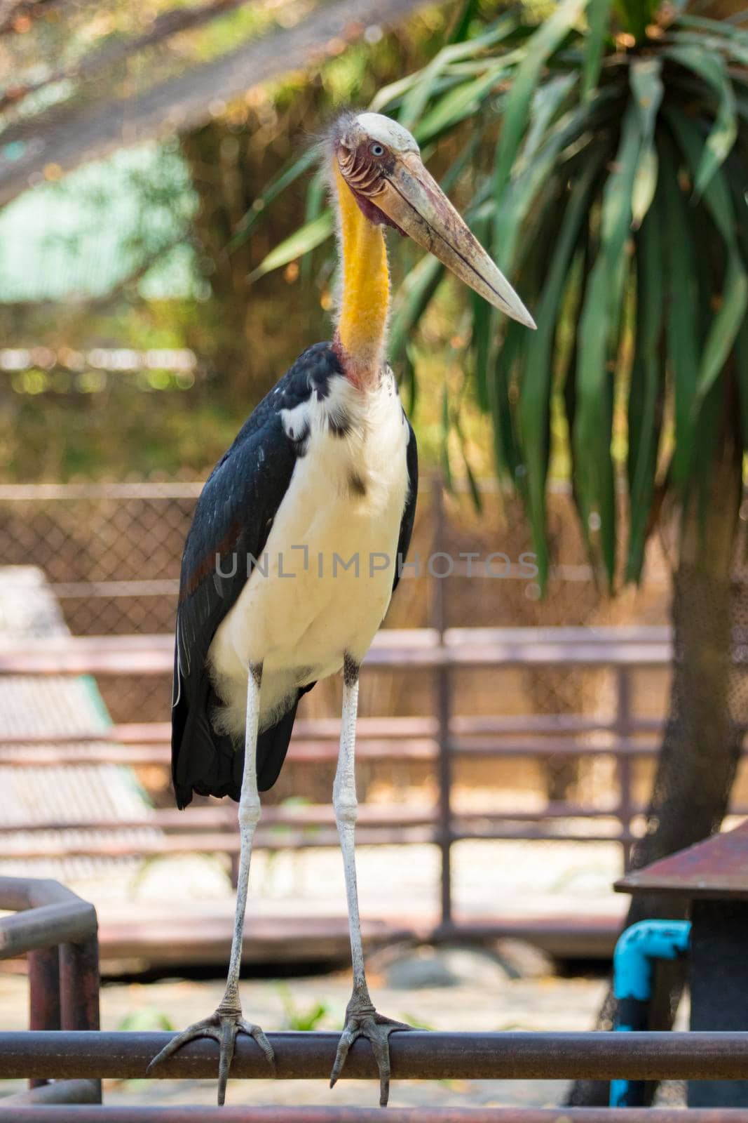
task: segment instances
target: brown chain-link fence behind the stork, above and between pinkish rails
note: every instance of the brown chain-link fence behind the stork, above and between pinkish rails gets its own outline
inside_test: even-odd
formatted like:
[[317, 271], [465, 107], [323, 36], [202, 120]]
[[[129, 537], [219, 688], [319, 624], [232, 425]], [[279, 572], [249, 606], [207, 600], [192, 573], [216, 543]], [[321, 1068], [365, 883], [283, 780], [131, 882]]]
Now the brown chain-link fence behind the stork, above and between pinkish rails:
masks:
[[[179, 562], [202, 484], [102, 483], [0, 489], [0, 565], [34, 564], [46, 574], [74, 634], [153, 634], [174, 628]], [[570, 495], [550, 495], [550, 536], [556, 566], [548, 595], [533, 572], [532, 542], [518, 501], [486, 485], [482, 510], [467, 494], [436, 502], [435, 481], [422, 483], [409, 567], [387, 623], [398, 628], [553, 627], [661, 623], [667, 620], [665, 566], [653, 551], [646, 593], [607, 600], [588, 565]], [[441, 493], [440, 493], [441, 494]], [[436, 558], [435, 555], [442, 555]], [[490, 563], [487, 559], [490, 558]], [[436, 576], [449, 569], [449, 578]], [[488, 576], [488, 573], [491, 576]], [[435, 619], [436, 601], [438, 617]], [[583, 714], [613, 705], [609, 676], [589, 668], [528, 667], [455, 675], [456, 706], [475, 713], [501, 706], [534, 714]], [[117, 723], [168, 718], [170, 681], [117, 676], [100, 683]], [[637, 684], [637, 706], [662, 714], [665, 676]], [[338, 711], [338, 684], [321, 684], [306, 700], [311, 716]], [[488, 707], [488, 710], [487, 710]], [[433, 713], [430, 683], [417, 673], [366, 676], [361, 711]], [[592, 764], [548, 760], [545, 785], [562, 798], [589, 786]], [[465, 783], [470, 783], [465, 766]], [[372, 766], [372, 782], [376, 768]], [[326, 777], [325, 777], [326, 780]], [[364, 787], [368, 777], [362, 776]]]

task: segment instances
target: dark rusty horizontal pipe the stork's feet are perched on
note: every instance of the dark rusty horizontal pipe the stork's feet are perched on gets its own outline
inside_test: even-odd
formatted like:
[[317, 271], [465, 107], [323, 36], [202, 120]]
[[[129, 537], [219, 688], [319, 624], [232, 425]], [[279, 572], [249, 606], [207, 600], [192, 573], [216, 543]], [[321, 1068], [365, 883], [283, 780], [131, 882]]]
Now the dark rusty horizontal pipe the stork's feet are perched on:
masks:
[[[169, 1033], [0, 1033], [0, 1078], [146, 1076]], [[327, 1079], [339, 1034], [269, 1033], [280, 1079]], [[748, 1033], [412, 1033], [391, 1040], [395, 1079], [607, 1080], [745, 1079]], [[214, 1078], [214, 1041], [185, 1046], [157, 1071], [164, 1078]], [[348, 1077], [373, 1079], [377, 1068], [360, 1039]], [[265, 1078], [255, 1044], [237, 1042], [232, 1076]]]

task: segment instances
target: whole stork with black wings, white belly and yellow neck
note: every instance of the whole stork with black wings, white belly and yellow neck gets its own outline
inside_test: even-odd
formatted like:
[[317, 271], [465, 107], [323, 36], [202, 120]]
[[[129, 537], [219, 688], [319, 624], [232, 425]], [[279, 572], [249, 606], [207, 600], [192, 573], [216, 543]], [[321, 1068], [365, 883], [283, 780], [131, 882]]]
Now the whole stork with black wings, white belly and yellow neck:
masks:
[[[176, 801], [239, 802], [241, 850], [225, 994], [153, 1063], [196, 1037], [220, 1046], [219, 1104], [234, 1040], [265, 1033], [242, 1017], [239, 968], [259, 792], [275, 783], [296, 706], [343, 672], [333, 806], [345, 871], [353, 992], [331, 1085], [359, 1035], [371, 1042], [380, 1103], [389, 1034], [407, 1030], [373, 1006], [355, 886], [354, 745], [359, 667], [387, 611], [416, 503], [413, 429], [386, 362], [389, 271], [384, 227], [428, 249], [489, 303], [533, 319], [424, 167], [413, 136], [379, 113], [347, 112], [323, 146], [336, 203], [342, 284], [332, 343], [315, 344], [244, 422], [195, 509], [182, 564], [173, 701]], [[351, 564], [352, 558], [358, 564]], [[386, 560], [382, 560], [386, 559]]]

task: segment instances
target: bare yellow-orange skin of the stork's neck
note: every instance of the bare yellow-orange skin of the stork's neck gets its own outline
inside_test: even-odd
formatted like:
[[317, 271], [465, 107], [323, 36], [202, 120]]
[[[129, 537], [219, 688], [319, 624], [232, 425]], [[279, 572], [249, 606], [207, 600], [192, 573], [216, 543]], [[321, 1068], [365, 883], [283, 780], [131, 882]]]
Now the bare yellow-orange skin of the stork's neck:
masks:
[[333, 167], [343, 258], [336, 339], [345, 374], [355, 385], [364, 387], [378, 381], [384, 360], [389, 311], [387, 247], [382, 228], [362, 214], [338, 161], [333, 161]]

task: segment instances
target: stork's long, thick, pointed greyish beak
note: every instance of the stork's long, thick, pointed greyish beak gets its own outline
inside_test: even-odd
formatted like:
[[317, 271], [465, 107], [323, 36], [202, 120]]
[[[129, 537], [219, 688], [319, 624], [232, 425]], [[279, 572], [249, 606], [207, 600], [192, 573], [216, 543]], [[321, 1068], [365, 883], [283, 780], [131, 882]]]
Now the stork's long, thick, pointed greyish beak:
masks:
[[535, 328], [535, 320], [497, 268], [415, 152], [398, 154], [382, 190], [371, 197], [405, 234], [467, 285], [514, 320]]

